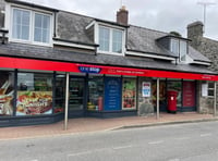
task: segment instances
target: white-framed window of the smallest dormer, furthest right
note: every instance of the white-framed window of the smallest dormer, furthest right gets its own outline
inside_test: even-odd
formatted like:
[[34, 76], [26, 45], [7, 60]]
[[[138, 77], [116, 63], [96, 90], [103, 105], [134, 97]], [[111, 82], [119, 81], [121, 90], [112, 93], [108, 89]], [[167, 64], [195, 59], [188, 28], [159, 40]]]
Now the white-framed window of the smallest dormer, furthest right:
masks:
[[187, 54], [187, 42], [182, 39], [171, 38], [170, 51], [175, 55], [179, 55], [181, 62], [185, 62]]

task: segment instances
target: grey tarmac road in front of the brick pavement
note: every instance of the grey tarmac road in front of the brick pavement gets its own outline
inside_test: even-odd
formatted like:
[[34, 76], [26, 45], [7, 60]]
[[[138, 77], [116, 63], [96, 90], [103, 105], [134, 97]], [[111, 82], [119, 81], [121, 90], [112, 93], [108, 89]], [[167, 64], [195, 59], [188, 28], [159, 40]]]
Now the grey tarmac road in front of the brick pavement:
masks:
[[0, 141], [0, 161], [217, 161], [218, 122]]

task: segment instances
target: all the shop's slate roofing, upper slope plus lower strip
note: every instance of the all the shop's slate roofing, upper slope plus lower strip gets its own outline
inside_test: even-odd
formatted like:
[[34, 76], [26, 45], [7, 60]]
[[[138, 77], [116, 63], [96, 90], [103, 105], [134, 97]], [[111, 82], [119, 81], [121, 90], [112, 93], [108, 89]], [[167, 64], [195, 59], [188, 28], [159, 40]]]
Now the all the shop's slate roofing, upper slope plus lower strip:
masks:
[[[8, 0], [11, 1], [11, 0]], [[88, 33], [86, 26], [93, 21], [100, 21], [94, 17], [80, 15], [65, 11], [53, 10], [57, 13], [57, 38], [65, 39], [70, 41], [94, 45], [94, 38]], [[102, 21], [109, 24], [116, 24], [114, 22]], [[153, 30], [138, 26], [123, 26], [128, 29], [126, 50], [138, 51], [142, 53], [162, 54], [167, 57], [174, 57], [165, 48], [160, 47], [156, 39], [165, 37], [168, 33]], [[93, 30], [94, 32], [94, 30]], [[190, 57], [197, 61], [210, 62], [202, 53], [189, 47]], [[0, 55], [22, 57], [32, 59], [56, 60], [75, 63], [89, 63], [99, 65], [117, 65], [126, 67], [141, 67], [141, 69], [156, 69], [167, 71], [180, 71], [180, 72], [194, 72], [194, 73], [207, 73], [214, 74], [202, 65], [187, 65], [187, 64], [172, 64], [167, 61], [158, 61], [146, 58], [130, 58], [130, 57], [117, 57], [110, 54], [93, 54], [61, 50], [51, 47], [39, 47], [32, 45], [22, 45], [10, 42], [7, 45], [0, 45]]]

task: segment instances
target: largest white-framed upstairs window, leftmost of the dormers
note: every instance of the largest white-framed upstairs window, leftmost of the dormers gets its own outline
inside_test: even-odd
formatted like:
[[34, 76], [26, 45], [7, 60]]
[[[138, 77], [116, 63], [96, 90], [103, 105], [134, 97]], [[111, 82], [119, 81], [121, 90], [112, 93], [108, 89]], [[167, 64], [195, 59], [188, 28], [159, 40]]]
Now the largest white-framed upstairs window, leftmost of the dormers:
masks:
[[50, 44], [51, 15], [13, 9], [12, 39], [34, 44]]

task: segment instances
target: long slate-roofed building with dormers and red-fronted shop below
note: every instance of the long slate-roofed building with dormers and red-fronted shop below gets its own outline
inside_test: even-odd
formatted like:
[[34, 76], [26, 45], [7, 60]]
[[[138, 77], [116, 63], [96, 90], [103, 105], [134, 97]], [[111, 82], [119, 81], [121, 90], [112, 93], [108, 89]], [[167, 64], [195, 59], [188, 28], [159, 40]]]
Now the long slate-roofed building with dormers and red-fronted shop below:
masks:
[[131, 25], [124, 7], [116, 22], [14, 0], [0, 10], [0, 126], [158, 115], [168, 100], [204, 112], [218, 81], [190, 39]]

